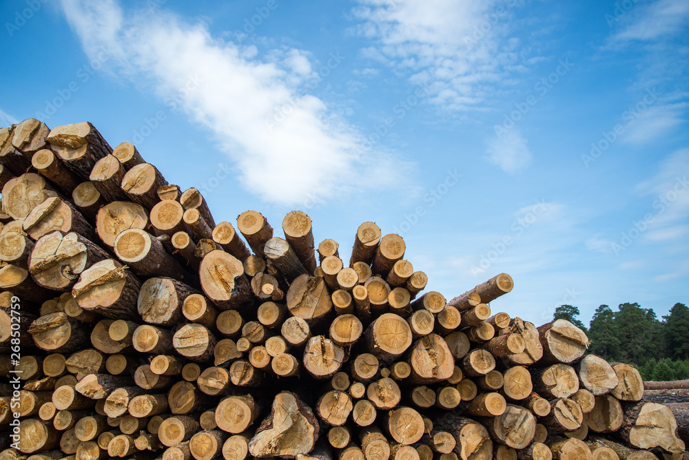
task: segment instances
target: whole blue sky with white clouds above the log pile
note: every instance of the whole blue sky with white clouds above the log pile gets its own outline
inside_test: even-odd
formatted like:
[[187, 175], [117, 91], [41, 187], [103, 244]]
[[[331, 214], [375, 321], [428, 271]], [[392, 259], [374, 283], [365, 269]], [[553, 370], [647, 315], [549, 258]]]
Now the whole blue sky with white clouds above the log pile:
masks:
[[5, 1], [0, 120], [91, 121], [216, 221], [400, 233], [495, 311], [688, 302], [689, 3]]

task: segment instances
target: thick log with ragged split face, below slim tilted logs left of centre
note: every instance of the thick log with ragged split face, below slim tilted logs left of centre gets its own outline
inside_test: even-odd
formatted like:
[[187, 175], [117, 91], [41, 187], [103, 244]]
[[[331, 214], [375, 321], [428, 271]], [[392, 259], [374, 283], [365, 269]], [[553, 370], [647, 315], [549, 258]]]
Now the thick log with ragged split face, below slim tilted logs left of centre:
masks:
[[242, 262], [225, 251], [205, 255], [199, 278], [206, 297], [220, 310], [239, 310], [254, 302]]

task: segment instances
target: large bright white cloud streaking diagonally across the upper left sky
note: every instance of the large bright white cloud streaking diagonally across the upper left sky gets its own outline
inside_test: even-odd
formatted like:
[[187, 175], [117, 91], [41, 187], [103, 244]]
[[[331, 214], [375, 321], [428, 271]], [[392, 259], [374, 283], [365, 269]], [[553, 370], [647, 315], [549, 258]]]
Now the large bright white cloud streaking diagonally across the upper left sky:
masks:
[[393, 158], [378, 151], [362, 154], [356, 127], [305, 91], [317, 76], [308, 53], [281, 48], [260, 56], [203, 24], [163, 10], [125, 12], [116, 0], [62, 6], [90, 57], [103, 47], [114, 57], [112, 74], [143, 82], [163, 100], [183, 94], [185, 113], [214, 133], [245, 187], [261, 198], [299, 205], [404, 183], [404, 165], [392, 167]]

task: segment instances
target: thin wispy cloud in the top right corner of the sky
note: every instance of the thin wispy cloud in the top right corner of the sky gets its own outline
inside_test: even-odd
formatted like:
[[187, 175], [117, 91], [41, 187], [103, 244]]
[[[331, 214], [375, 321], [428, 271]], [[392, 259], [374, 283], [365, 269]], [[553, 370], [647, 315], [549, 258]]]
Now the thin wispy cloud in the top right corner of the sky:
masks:
[[621, 18], [624, 27], [613, 35], [611, 41], [650, 41], [677, 34], [689, 23], [689, 2], [657, 0], [637, 3], [628, 14], [628, 20]]

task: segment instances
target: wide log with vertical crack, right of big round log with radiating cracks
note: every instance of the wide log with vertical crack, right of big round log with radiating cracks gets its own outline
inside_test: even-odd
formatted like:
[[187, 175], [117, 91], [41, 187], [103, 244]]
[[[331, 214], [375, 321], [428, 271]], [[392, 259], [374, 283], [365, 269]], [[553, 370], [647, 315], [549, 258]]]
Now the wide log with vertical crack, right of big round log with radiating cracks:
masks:
[[413, 384], [432, 384], [449, 379], [455, 371], [454, 362], [449, 346], [440, 335], [425, 335], [411, 347], [409, 381]]

